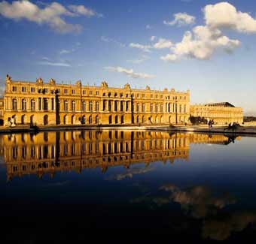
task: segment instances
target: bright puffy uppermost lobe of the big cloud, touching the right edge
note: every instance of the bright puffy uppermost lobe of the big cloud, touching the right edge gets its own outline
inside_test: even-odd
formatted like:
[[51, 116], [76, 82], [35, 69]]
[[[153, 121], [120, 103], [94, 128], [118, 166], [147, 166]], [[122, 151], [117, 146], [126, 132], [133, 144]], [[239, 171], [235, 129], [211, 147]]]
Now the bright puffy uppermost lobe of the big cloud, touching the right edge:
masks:
[[236, 8], [228, 2], [206, 5], [203, 12], [206, 25], [210, 28], [256, 33], [256, 20], [247, 13], [236, 11]]

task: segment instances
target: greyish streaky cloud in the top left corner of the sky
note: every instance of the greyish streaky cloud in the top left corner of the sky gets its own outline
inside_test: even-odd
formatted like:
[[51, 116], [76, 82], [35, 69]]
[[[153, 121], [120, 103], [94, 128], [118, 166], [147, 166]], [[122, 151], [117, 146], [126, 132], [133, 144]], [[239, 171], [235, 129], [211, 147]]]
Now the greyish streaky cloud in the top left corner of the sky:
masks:
[[3, 17], [12, 20], [29, 20], [38, 25], [46, 24], [56, 32], [65, 34], [68, 32], [80, 32], [81, 26], [67, 23], [64, 17], [90, 17], [95, 12], [87, 8], [82, 8], [82, 5], [71, 5], [69, 10], [63, 5], [53, 2], [50, 5], [45, 5], [44, 8], [39, 8], [38, 5], [32, 2], [20, 0], [14, 1], [11, 4], [3, 1], [0, 2], [0, 14]]

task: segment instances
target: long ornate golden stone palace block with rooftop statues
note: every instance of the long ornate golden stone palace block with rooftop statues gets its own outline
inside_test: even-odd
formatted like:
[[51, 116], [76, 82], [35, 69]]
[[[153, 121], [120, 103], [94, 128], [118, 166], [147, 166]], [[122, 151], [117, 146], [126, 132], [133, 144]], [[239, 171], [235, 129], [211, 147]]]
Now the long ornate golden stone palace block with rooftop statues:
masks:
[[6, 77], [5, 125], [169, 124], [188, 122], [190, 92], [14, 81]]

